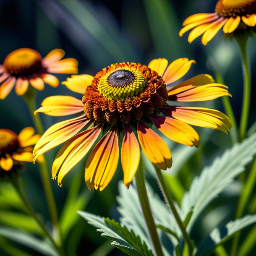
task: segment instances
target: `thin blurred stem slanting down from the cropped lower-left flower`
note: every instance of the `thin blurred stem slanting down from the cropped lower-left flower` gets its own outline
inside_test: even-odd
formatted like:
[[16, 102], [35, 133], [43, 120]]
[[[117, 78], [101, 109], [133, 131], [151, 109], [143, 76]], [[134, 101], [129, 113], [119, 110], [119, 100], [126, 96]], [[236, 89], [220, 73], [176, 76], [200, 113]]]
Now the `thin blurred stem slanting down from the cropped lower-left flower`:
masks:
[[55, 240], [53, 240], [52, 236], [49, 234], [48, 230], [46, 229], [46, 227], [44, 226], [44, 224], [41, 222], [41, 220], [37, 217], [37, 214], [35, 214], [34, 210], [31, 208], [29, 202], [26, 200], [24, 194], [21, 191], [21, 188], [18, 184], [17, 180], [13, 180], [11, 181], [13, 188], [16, 190], [18, 196], [20, 197], [22, 203], [24, 204], [25, 208], [27, 209], [27, 211], [29, 212], [29, 214], [35, 219], [35, 221], [37, 222], [37, 224], [39, 225], [39, 227], [41, 227], [42, 231], [44, 232], [44, 234], [47, 236], [47, 238], [50, 239], [52, 245], [56, 248], [56, 250], [59, 252], [59, 254], [61, 256], [63, 256], [63, 251], [61, 250], [61, 248], [56, 244]]

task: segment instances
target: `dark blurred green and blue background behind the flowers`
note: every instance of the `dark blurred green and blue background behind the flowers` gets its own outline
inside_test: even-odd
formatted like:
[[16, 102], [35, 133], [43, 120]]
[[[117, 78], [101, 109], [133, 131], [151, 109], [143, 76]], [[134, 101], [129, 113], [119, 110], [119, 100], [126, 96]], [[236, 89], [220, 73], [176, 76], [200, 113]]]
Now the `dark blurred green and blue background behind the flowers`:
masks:
[[[201, 38], [189, 44], [188, 33], [183, 37], [178, 35], [186, 17], [194, 13], [212, 13], [216, 2], [216, 0], [0, 0], [0, 63], [3, 63], [9, 52], [21, 47], [33, 48], [40, 52], [42, 57], [55, 48], [61, 48], [65, 51], [65, 57], [74, 57], [78, 60], [80, 74], [91, 75], [112, 63], [135, 62], [147, 65], [150, 60], [158, 57], [165, 57], [169, 62], [179, 57], [188, 57], [196, 60], [196, 65], [192, 66], [185, 79], [201, 73], [209, 73], [213, 77], [216, 73], [220, 73], [232, 94], [232, 107], [239, 120], [243, 78], [237, 43], [234, 40], [224, 39], [222, 31], [219, 31], [206, 47], [201, 44]], [[248, 47], [252, 68], [252, 95], [256, 95], [255, 37], [249, 39]], [[67, 76], [57, 75], [60, 81], [64, 81]], [[45, 97], [52, 95], [80, 97], [61, 84], [56, 89], [46, 85], [43, 91], [37, 92], [37, 107]], [[224, 111], [220, 99], [193, 105]], [[43, 114], [40, 114], [40, 117], [44, 129], [67, 119]], [[248, 127], [251, 127], [255, 120], [256, 104], [252, 97]], [[18, 97], [13, 90], [5, 100], [0, 101], [0, 128], [9, 128], [19, 133], [26, 126], [34, 125], [22, 97]], [[231, 145], [230, 136], [227, 137], [219, 131], [200, 128], [196, 128], [196, 131], [199, 132], [202, 141], [199, 149], [187, 148], [167, 141], [174, 159], [173, 167], [167, 170], [167, 174], [175, 177], [174, 186], [179, 187], [177, 190], [171, 188], [178, 202], [202, 167], [209, 165], [214, 157]], [[201, 154], [204, 149], [207, 149], [207, 153]], [[46, 154], [49, 166], [52, 165], [56, 153], [57, 149], [54, 149]], [[112, 247], [110, 242], [101, 238], [93, 227], [87, 225], [76, 214], [76, 210], [81, 209], [118, 220], [116, 196], [118, 196], [118, 181], [123, 178], [122, 170], [119, 167], [110, 185], [100, 193], [88, 191], [86, 188], [84, 167], [85, 159], [64, 178], [62, 188], [58, 187], [57, 182], [52, 181], [67, 255], [124, 255]], [[147, 178], [159, 193], [150, 170], [147, 172]], [[20, 182], [35, 211], [47, 222], [50, 217], [37, 167], [28, 164]], [[239, 188], [239, 183], [230, 185], [221, 199], [215, 200], [211, 206], [214, 212], [210, 209], [205, 211], [201, 222], [196, 224], [201, 228], [199, 229], [201, 232], [193, 234], [195, 240], [204, 237], [206, 232], [225, 222], [225, 219], [233, 217]], [[80, 199], [77, 204], [72, 201], [75, 198]], [[227, 203], [224, 205], [223, 201]], [[256, 199], [254, 202], [256, 203]], [[248, 206], [246, 211], [253, 212], [255, 208], [256, 205]], [[38, 232], [36, 224], [27, 217], [15, 192], [5, 183], [0, 185], [0, 226], [16, 227], [34, 234]], [[41, 255], [0, 236], [0, 255], [18, 255], [12, 248], [20, 248], [27, 253], [24, 255]]]

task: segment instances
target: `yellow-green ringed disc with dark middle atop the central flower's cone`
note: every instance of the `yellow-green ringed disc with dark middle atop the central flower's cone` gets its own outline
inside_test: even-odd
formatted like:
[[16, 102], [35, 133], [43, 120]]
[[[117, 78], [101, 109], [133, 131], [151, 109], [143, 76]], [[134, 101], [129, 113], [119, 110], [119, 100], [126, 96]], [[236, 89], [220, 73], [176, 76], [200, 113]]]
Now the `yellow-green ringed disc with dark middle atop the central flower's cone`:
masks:
[[146, 85], [146, 78], [135, 68], [120, 67], [99, 79], [99, 92], [108, 99], [125, 99], [137, 95]]

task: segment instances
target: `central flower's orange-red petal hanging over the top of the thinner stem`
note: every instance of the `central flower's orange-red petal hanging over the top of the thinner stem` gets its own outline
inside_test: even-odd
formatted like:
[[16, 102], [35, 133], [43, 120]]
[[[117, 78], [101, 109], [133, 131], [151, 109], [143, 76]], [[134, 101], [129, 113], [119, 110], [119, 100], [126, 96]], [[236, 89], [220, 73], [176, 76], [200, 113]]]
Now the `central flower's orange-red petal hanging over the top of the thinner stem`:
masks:
[[138, 121], [138, 140], [146, 157], [159, 169], [172, 166], [172, 155], [165, 142], [157, 133]]

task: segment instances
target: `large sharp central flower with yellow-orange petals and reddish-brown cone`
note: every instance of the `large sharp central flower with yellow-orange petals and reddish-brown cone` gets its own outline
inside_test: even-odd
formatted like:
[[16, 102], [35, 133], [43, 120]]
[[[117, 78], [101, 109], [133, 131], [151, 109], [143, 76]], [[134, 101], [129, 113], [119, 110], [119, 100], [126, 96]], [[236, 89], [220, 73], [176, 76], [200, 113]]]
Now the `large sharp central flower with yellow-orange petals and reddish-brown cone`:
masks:
[[52, 166], [52, 177], [61, 185], [63, 177], [100, 138], [87, 159], [85, 182], [89, 189], [102, 191], [118, 166], [120, 142], [123, 181], [127, 187], [138, 168], [140, 146], [154, 165], [163, 170], [171, 167], [171, 152], [150, 128], [152, 126], [173, 141], [188, 146], [200, 144], [198, 134], [189, 124], [228, 133], [231, 123], [222, 112], [168, 104], [170, 101], [204, 101], [230, 95], [227, 86], [215, 84], [212, 77], [205, 74], [166, 87], [183, 77], [192, 63], [195, 61], [180, 58], [168, 65], [166, 59], [159, 58], [148, 66], [112, 64], [94, 77], [74, 75], [68, 78], [63, 84], [82, 94], [82, 100], [70, 96], [48, 97], [35, 113], [52, 116], [83, 114], [52, 125], [35, 145], [34, 160], [67, 141]]

